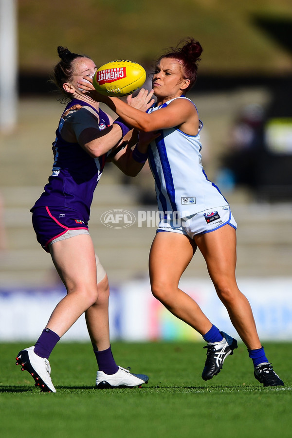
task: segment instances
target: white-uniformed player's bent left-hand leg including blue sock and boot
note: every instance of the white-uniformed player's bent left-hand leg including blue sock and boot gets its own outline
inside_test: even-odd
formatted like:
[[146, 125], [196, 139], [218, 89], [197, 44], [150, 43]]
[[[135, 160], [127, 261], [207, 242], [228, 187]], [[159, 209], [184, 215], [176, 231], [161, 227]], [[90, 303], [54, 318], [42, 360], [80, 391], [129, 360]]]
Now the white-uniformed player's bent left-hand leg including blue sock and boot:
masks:
[[237, 341], [220, 332], [198, 304], [178, 287], [196, 248], [196, 243], [184, 235], [157, 233], [149, 257], [150, 281], [154, 296], [175, 316], [201, 333], [208, 343], [202, 378], [209, 380], [220, 372], [225, 358], [233, 354]]

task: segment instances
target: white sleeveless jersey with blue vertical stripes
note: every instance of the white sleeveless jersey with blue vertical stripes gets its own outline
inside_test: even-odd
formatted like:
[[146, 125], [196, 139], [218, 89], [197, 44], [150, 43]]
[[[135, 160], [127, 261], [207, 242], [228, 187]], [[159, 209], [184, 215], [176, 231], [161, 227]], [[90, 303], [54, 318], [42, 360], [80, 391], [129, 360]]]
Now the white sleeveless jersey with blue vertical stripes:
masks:
[[[159, 107], [154, 104], [147, 112], [165, 108], [173, 100]], [[199, 133], [201, 128], [200, 120]], [[175, 211], [183, 218], [228, 204], [204, 172], [199, 133], [188, 135], [178, 128], [162, 129], [160, 132], [161, 135], [150, 144], [148, 158], [155, 179], [159, 211]]]

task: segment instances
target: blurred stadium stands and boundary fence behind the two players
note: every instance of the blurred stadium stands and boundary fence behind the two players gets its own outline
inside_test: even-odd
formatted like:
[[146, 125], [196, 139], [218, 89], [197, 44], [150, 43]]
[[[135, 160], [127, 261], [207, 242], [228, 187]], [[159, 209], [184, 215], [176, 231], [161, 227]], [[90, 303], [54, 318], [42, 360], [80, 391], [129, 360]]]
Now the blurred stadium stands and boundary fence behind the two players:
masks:
[[[164, 48], [188, 36], [203, 47], [189, 97], [204, 123], [206, 173], [237, 220], [239, 286], [252, 303], [261, 337], [290, 339], [291, 0], [0, 0], [0, 5], [1, 102], [7, 84], [13, 88], [14, 64], [17, 84], [15, 107], [2, 104], [0, 114], [0, 340], [34, 339], [64, 294], [50, 256], [37, 244], [29, 212], [50, 175], [62, 110], [49, 82], [57, 46], [89, 55], [98, 66], [131, 59], [150, 72]], [[7, 54], [10, 39], [3, 33], [9, 5], [16, 12], [15, 58], [13, 48]], [[124, 229], [105, 227], [100, 217], [112, 209], [136, 218], [139, 211], [156, 211], [147, 166], [130, 179], [108, 164], [92, 205], [91, 236], [112, 287], [112, 338], [196, 339], [149, 292], [147, 260], [155, 227], [139, 227], [137, 220]], [[182, 287], [228, 330], [199, 253]], [[68, 339], [88, 339], [82, 318]]]

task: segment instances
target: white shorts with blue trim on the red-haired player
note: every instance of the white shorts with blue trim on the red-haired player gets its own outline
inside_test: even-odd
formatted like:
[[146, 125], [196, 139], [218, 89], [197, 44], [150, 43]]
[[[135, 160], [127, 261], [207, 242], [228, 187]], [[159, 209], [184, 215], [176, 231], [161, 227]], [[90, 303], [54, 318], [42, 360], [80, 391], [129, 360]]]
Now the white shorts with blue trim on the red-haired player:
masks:
[[224, 225], [230, 225], [237, 229], [237, 223], [232, 216], [229, 205], [200, 211], [191, 217], [180, 220], [162, 219], [156, 232], [171, 231], [184, 234], [193, 239], [197, 234], [210, 233]]

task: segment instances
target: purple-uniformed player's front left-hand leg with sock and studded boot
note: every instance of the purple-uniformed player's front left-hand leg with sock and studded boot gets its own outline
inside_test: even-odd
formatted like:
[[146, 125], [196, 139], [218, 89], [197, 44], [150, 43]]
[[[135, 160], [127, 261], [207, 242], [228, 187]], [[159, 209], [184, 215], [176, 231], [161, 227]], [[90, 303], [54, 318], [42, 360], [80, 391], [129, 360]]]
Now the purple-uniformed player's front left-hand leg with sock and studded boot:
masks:
[[98, 298], [96, 261], [91, 237], [79, 235], [51, 245], [51, 256], [67, 295], [57, 304], [35, 346], [18, 353], [17, 365], [27, 370], [42, 391], [55, 392], [49, 356], [60, 337]]

